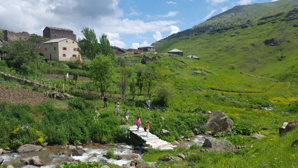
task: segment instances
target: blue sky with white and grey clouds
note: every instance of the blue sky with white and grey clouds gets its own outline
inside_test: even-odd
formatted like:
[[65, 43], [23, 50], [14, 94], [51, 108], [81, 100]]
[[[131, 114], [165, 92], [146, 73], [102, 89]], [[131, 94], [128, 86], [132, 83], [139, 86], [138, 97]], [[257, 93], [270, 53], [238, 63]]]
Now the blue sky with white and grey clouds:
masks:
[[277, 0], [0, 0], [0, 28], [41, 36], [46, 26], [66, 28], [83, 38], [88, 27], [113, 46], [137, 48], [236, 5], [271, 1]]

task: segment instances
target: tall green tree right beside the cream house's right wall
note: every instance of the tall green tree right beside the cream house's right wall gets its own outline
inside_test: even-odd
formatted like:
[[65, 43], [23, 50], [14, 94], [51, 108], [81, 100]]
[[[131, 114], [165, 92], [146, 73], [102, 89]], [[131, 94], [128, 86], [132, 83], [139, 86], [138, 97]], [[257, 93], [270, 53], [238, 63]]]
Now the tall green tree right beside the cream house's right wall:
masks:
[[92, 60], [94, 59], [96, 54], [99, 53], [99, 44], [96, 35], [94, 33], [94, 30], [89, 28], [83, 28], [81, 32], [83, 33], [85, 38], [79, 38], [77, 40], [77, 51], [79, 51], [81, 55], [84, 55]]

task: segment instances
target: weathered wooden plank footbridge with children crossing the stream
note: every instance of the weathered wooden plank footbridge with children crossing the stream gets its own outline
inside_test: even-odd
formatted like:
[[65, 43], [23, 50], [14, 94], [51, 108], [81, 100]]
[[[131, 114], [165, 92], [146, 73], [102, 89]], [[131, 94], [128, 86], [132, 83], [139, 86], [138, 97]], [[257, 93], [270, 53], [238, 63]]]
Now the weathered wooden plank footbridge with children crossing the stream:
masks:
[[147, 132], [144, 131], [142, 127], [139, 128], [139, 132], [137, 130], [137, 126], [131, 126], [129, 130], [135, 134], [136, 136], [142, 138], [146, 142], [146, 144], [150, 145], [154, 149], [173, 149], [177, 146], [174, 146], [171, 143], [168, 143], [167, 141], [159, 139], [156, 135], [148, 133], [148, 137], [146, 137]]

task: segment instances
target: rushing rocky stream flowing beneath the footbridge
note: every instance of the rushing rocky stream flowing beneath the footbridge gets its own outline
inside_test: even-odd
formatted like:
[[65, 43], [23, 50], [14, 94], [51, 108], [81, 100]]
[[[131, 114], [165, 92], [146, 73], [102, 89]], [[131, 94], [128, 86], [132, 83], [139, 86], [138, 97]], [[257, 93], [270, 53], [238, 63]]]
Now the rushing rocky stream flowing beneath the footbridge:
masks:
[[[195, 135], [190, 138], [190, 141], [186, 141], [186, 140], [179, 141], [180, 145], [177, 145], [177, 146], [186, 147], [186, 148], [189, 148], [193, 144], [202, 146], [204, 143], [205, 137], [212, 137], [212, 136]], [[82, 156], [68, 157], [66, 155], [59, 155], [59, 153], [61, 153], [63, 150], [66, 150], [67, 147], [68, 147], [67, 145], [46, 146], [38, 152], [31, 152], [31, 153], [24, 153], [24, 154], [8, 152], [6, 154], [2, 154], [1, 157], [4, 158], [3, 164], [12, 165], [14, 167], [21, 167], [21, 168], [37, 168], [37, 166], [25, 165], [24, 163], [20, 162], [20, 160], [23, 158], [28, 158], [33, 156], [39, 156], [39, 159], [41, 159], [44, 162], [44, 166], [41, 166], [41, 168], [55, 168], [56, 166], [60, 165], [63, 162], [71, 162], [74, 160], [80, 160], [82, 162], [97, 161], [100, 163], [113, 163], [113, 164], [122, 166], [123, 164], [130, 163], [134, 158], [142, 157], [143, 155], [142, 151], [147, 148], [147, 147], [139, 147], [134, 145], [127, 145], [124, 143], [117, 143], [113, 146], [102, 145], [99, 143], [92, 143], [92, 144], [86, 144], [85, 146], [83, 146], [86, 153], [83, 153]], [[137, 150], [138, 153], [134, 153], [134, 151], [131, 150], [131, 148], [134, 148], [134, 150]], [[122, 157], [122, 159], [117, 161], [115, 159], [107, 159], [103, 157], [103, 154], [105, 154], [108, 149], [112, 149], [114, 153]]]

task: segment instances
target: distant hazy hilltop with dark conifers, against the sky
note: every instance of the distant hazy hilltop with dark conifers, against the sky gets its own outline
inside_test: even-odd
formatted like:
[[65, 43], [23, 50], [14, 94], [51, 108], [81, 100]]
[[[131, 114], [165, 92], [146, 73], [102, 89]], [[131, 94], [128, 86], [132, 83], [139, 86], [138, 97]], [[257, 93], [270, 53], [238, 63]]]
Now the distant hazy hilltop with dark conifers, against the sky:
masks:
[[165, 39], [175, 39], [206, 30], [215, 30], [243, 24], [248, 20], [255, 21], [277, 13], [287, 13], [297, 5], [298, 1], [295, 0], [279, 0], [270, 3], [238, 5], [223, 13], [213, 16], [199, 25], [195, 25], [193, 28], [178, 32]]

